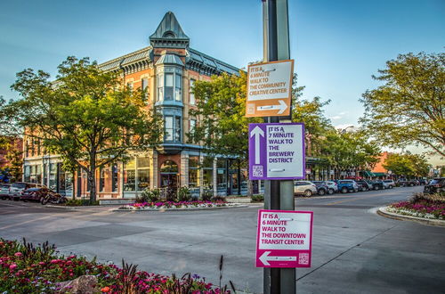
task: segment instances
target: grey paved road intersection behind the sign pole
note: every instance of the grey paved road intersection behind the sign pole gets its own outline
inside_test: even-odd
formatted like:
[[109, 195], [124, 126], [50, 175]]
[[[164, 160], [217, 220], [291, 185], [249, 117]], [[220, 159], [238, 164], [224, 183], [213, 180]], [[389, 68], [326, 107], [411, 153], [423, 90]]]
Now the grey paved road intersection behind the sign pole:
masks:
[[[297, 269], [298, 293], [439, 293], [445, 289], [445, 228], [392, 220], [375, 213], [421, 187], [298, 198], [314, 212], [313, 259]], [[124, 257], [159, 274], [191, 272], [240, 290], [262, 292], [255, 268], [255, 227], [261, 206], [189, 212], [65, 211], [0, 201], [0, 236], [50, 241], [74, 252], [119, 263]]]

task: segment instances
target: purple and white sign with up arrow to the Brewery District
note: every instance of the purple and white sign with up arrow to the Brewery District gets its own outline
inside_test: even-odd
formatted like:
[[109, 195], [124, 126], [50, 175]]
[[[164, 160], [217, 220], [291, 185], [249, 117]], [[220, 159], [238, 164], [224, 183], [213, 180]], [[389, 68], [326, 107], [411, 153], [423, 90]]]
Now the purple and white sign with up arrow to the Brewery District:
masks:
[[249, 179], [303, 179], [304, 125], [249, 124]]

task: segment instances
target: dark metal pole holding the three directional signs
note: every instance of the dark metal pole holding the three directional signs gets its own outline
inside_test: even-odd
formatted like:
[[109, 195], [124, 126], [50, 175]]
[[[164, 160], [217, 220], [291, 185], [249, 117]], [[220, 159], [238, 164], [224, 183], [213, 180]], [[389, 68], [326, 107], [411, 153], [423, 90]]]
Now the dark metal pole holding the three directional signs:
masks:
[[[263, 0], [263, 30], [264, 61], [288, 60], [287, 0]], [[290, 122], [291, 117], [292, 112], [281, 122]], [[264, 122], [279, 123], [280, 119], [268, 117]], [[264, 188], [265, 209], [295, 210], [293, 181], [265, 181]], [[264, 293], [295, 293], [295, 282], [295, 268], [264, 268]]]

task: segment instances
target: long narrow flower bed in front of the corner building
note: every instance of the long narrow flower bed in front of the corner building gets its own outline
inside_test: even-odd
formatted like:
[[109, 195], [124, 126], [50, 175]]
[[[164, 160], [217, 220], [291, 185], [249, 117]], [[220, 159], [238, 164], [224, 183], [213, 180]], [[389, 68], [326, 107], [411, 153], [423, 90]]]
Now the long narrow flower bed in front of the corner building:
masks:
[[194, 200], [194, 201], [157, 201], [157, 202], [142, 202], [142, 203], [132, 203], [120, 207], [119, 209], [132, 209], [132, 210], [142, 210], [142, 209], [168, 209], [168, 208], [221, 208], [226, 206], [235, 206], [234, 203], [227, 203], [225, 201], [205, 201], [205, 200]]

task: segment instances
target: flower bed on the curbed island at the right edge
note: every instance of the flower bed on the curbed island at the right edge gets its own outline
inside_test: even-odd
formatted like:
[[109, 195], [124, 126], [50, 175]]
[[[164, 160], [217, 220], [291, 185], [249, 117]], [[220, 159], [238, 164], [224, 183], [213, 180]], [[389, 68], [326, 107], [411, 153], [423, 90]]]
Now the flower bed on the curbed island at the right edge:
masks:
[[409, 201], [392, 203], [387, 210], [407, 216], [445, 219], [445, 200], [419, 193]]

